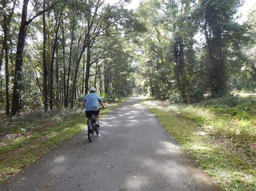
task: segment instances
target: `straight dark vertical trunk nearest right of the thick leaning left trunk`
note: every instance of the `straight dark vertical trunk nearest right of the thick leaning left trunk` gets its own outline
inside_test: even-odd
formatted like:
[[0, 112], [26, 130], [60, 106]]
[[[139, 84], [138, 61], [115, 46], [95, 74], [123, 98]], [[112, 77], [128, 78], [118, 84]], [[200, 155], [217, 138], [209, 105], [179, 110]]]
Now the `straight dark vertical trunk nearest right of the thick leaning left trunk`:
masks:
[[[45, 9], [45, 1], [43, 2], [43, 9]], [[47, 43], [47, 32], [46, 32], [46, 21], [45, 15], [43, 14], [43, 97], [44, 97], [44, 111], [48, 110], [48, 63], [46, 59], [46, 43]]]

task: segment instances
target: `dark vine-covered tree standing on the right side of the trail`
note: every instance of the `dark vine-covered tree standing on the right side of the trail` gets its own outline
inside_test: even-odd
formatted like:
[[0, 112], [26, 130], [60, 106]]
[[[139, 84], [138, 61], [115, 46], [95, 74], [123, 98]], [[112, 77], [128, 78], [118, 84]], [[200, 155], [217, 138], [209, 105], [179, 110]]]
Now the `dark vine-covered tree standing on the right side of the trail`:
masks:
[[228, 36], [234, 29], [234, 14], [240, 1], [199, 1], [198, 17], [207, 46], [208, 84], [213, 97], [227, 93]]

